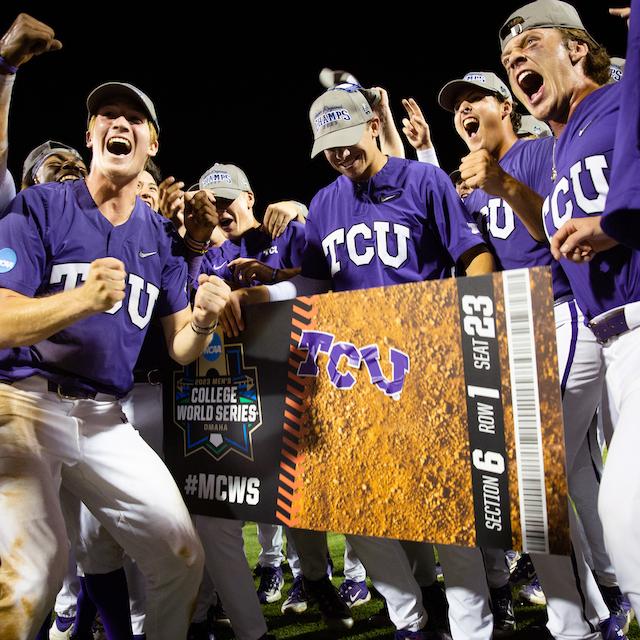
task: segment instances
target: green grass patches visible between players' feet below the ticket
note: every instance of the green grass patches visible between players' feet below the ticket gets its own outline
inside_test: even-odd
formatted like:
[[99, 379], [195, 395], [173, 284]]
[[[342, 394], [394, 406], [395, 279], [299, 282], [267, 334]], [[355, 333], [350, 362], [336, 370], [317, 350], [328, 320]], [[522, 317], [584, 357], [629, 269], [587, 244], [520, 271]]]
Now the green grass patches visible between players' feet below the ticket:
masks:
[[[254, 567], [259, 553], [256, 537], [256, 526], [249, 523], [244, 527], [245, 549], [249, 565]], [[342, 564], [344, 551], [344, 538], [341, 535], [329, 534], [329, 548], [334, 562], [333, 583], [339, 586], [342, 582]], [[352, 629], [344, 633], [329, 631], [323, 625], [317, 608], [312, 607], [301, 615], [283, 616], [280, 613], [280, 606], [284, 602], [286, 593], [291, 586], [291, 573], [285, 570], [285, 586], [283, 589], [283, 599], [273, 604], [264, 605], [263, 611], [267, 620], [270, 633], [274, 634], [278, 640], [281, 638], [304, 638], [305, 640], [333, 640], [344, 637], [352, 640], [365, 640], [372, 638], [393, 638], [393, 628], [391, 626], [374, 628], [367, 622], [367, 618], [377, 613], [382, 608], [382, 600], [372, 598], [367, 604], [352, 609], [355, 624]], [[256, 579], [256, 587], [258, 580]], [[515, 640], [539, 640], [545, 637], [536, 627], [543, 626], [546, 621], [544, 607], [530, 605], [516, 605], [517, 633], [513, 636]], [[640, 640], [640, 630], [634, 621], [629, 632], [630, 639]], [[232, 632], [225, 627], [216, 628], [216, 638], [228, 640], [233, 638]], [[471, 638], [469, 640], [472, 640]]]

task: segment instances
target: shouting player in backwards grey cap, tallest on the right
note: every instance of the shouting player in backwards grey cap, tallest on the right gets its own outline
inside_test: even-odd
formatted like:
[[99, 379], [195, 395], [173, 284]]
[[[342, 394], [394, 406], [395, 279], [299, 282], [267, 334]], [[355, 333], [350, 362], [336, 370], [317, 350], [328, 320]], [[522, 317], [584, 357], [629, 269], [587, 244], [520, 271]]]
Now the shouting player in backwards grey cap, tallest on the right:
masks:
[[[511, 88], [536, 118], [554, 132], [551, 184], [543, 205], [544, 227], [551, 237], [572, 218], [601, 214], [609, 189], [614, 132], [622, 99], [621, 85], [608, 84], [609, 57], [584, 28], [573, 6], [533, 2], [513, 12], [500, 30], [502, 63]], [[636, 116], [637, 117], [637, 116]], [[640, 556], [629, 540], [640, 522], [640, 504], [624, 510], [617, 496], [640, 487], [638, 450], [637, 332], [640, 304], [638, 256], [614, 247], [586, 264], [561, 265], [587, 322], [591, 341], [580, 363], [582, 401], [594, 412], [603, 386], [612, 408], [611, 440], [599, 496], [607, 550], [620, 587], [634, 607], [640, 605]], [[569, 463], [569, 460], [567, 460]]]

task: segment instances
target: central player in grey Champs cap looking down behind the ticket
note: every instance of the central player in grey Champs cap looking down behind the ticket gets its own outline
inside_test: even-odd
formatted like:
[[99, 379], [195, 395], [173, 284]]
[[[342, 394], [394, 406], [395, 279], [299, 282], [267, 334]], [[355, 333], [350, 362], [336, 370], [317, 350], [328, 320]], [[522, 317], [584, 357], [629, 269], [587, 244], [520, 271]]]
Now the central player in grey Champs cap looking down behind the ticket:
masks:
[[[348, 113], [349, 118], [333, 118], [333, 113]], [[272, 299], [290, 295], [292, 287], [307, 286], [307, 279], [324, 282], [325, 288], [349, 290], [446, 277], [456, 263], [468, 275], [492, 270], [493, 260], [470, 230], [470, 217], [447, 175], [429, 165], [385, 156], [376, 144], [380, 122], [357, 89], [341, 85], [327, 91], [313, 103], [310, 119], [315, 137], [312, 156], [324, 151], [341, 176], [322, 189], [309, 207], [302, 278], [271, 287]], [[347, 245], [344, 237], [355, 213], [362, 244]], [[395, 235], [393, 250], [387, 244], [389, 233]], [[292, 534], [307, 592], [329, 599], [333, 587], [323, 577], [324, 534], [301, 530]], [[348, 539], [387, 600], [395, 637], [425, 637], [421, 594], [399, 542], [365, 536]], [[479, 552], [465, 551], [465, 562], [459, 561], [457, 553], [448, 558], [447, 547], [440, 551], [443, 564], [444, 557], [450, 560], [445, 572], [454, 600], [474, 566], [484, 582]], [[451, 617], [454, 638], [491, 637], [486, 582], [484, 591], [481, 585], [474, 586], [478, 595], [465, 599], [468, 610]]]

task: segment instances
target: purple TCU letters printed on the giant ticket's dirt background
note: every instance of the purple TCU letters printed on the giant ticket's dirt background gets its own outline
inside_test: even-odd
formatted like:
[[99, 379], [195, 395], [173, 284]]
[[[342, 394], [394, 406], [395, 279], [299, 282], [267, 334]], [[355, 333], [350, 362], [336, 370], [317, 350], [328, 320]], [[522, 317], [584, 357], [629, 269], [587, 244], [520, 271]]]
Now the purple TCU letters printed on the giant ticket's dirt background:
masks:
[[380, 350], [376, 344], [358, 349], [351, 342], [336, 342], [335, 336], [331, 333], [303, 331], [298, 347], [309, 352], [306, 360], [298, 366], [299, 376], [318, 377], [320, 374], [317, 365], [318, 354], [325, 353], [329, 356], [326, 371], [331, 384], [336, 389], [351, 389], [356, 383], [355, 376], [348, 371], [343, 373], [338, 369], [340, 360], [344, 357], [346, 365], [352, 369], [360, 369], [360, 365], [364, 362], [371, 384], [394, 400], [400, 399], [410, 364], [409, 356], [403, 351], [389, 349], [389, 360], [393, 369], [392, 378], [389, 380], [380, 367]]

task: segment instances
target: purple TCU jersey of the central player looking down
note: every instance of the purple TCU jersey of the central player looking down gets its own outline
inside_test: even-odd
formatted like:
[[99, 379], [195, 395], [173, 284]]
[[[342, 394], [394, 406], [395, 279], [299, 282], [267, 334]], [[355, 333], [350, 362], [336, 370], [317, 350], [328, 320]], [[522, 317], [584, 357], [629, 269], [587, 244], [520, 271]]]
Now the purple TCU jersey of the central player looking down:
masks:
[[451, 275], [483, 244], [451, 180], [430, 164], [389, 158], [370, 180], [340, 176], [311, 202], [302, 275], [336, 291]]

